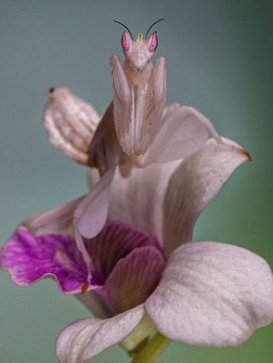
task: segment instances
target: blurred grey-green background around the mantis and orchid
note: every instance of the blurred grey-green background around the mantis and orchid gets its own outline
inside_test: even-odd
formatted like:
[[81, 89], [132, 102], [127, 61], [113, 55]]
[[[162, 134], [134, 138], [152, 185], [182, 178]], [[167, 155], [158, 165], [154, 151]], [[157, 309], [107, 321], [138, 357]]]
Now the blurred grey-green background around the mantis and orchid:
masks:
[[[253, 157], [200, 217], [195, 239], [238, 244], [273, 266], [272, 0], [0, 1], [0, 236], [22, 219], [87, 190], [86, 170], [48, 141], [46, 90], [66, 85], [102, 113], [111, 99], [108, 58], [123, 29], [136, 36], [156, 19], [156, 56], [167, 61], [168, 103], [194, 106]], [[58, 333], [88, 312], [52, 281], [28, 288], [0, 274], [0, 362], [57, 362]], [[160, 363], [268, 363], [273, 325], [241, 347], [172, 343]], [[118, 347], [94, 363], [126, 363]]]

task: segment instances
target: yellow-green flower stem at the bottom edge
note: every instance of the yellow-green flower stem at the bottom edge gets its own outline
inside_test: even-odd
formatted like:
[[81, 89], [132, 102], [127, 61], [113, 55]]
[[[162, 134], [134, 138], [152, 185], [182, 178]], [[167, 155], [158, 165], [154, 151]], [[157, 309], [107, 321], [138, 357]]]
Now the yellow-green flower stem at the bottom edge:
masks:
[[151, 363], [153, 362], [163, 351], [163, 349], [169, 344], [170, 340], [160, 333], [156, 333], [155, 336], [147, 343], [144, 348], [136, 355], [132, 363]]

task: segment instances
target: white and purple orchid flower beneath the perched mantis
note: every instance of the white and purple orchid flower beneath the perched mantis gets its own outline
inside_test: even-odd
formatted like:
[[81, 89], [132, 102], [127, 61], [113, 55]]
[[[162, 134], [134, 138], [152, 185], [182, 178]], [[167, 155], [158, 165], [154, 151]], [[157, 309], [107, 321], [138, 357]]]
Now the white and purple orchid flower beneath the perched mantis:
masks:
[[[273, 321], [273, 275], [263, 258], [235, 245], [192, 242], [199, 214], [248, 159], [223, 140], [209, 139], [182, 161], [133, 167], [127, 178], [115, 171], [107, 222], [84, 239], [92, 277], [80, 298], [95, 318], [62, 331], [61, 363], [86, 361], [118, 343], [134, 350], [155, 330], [194, 345], [236, 346]], [[35, 231], [41, 236], [21, 226], [6, 242], [2, 269], [18, 285], [53, 277], [63, 294], [78, 294], [88, 271], [68, 233], [71, 220], [57, 218], [50, 235], [43, 221]]]

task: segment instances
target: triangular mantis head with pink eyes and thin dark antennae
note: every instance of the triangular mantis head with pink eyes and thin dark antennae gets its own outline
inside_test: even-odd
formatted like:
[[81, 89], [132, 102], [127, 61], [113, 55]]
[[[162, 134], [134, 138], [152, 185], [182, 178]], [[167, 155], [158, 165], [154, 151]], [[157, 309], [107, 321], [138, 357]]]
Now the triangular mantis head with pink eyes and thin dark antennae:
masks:
[[121, 45], [126, 60], [137, 71], [144, 69], [151, 61], [151, 58], [158, 46], [157, 32], [154, 31], [149, 39], [147, 35], [152, 26], [163, 19], [155, 21], [147, 30], [145, 39], [143, 39], [142, 33], [138, 33], [136, 40], [134, 41], [131, 31], [124, 24], [119, 21], [115, 22], [124, 26], [127, 31], [124, 31], [121, 38]]

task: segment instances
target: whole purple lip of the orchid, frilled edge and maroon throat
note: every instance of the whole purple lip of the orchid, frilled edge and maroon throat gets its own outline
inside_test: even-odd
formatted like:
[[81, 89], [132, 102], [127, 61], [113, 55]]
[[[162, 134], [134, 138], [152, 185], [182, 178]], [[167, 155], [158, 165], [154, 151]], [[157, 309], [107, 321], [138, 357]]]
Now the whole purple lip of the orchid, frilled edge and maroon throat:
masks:
[[[88, 283], [86, 283], [86, 264], [71, 236], [45, 235], [35, 237], [27, 228], [21, 226], [2, 248], [0, 264], [3, 270], [9, 272], [12, 281], [17, 285], [27, 286], [43, 278], [51, 277], [57, 281], [63, 294], [85, 293], [89, 290], [99, 292], [104, 289], [103, 295], [105, 296], [108, 289], [107, 300], [108, 296], [111, 295], [109, 294], [109, 286], [115, 285], [113, 272], [120, 281], [122, 278], [125, 279], [121, 282], [124, 289], [126, 289], [126, 279], [132, 285], [132, 281], [137, 283], [138, 276], [149, 281], [149, 288], [144, 287], [146, 295], [147, 291], [151, 292], [156, 287], [165, 264], [160, 244], [156, 238], [120, 222], [108, 221], [96, 238], [84, 242], [92, 261], [92, 277]], [[143, 267], [141, 264], [144, 260], [149, 262], [148, 255], [158, 262], [158, 266], [154, 267], [158, 271], [156, 274], [152, 271], [147, 273], [146, 266]], [[133, 270], [131, 269], [132, 264], [134, 265]], [[152, 261], [150, 266], [153, 264]], [[134, 278], [128, 280], [128, 276], [121, 276], [120, 269], [123, 271], [131, 269], [130, 273], [134, 275]], [[111, 284], [108, 281], [109, 278]], [[107, 288], [104, 288], [105, 285]], [[141, 290], [141, 288], [140, 286], [139, 289]], [[138, 296], [137, 303], [141, 299], [141, 302], [144, 301], [144, 295], [142, 294], [140, 298]], [[119, 302], [117, 302], [116, 296], [115, 301], [115, 305], [118, 306]], [[111, 307], [111, 301], [108, 305]], [[119, 311], [120, 309], [119, 307], [115, 308]]]

